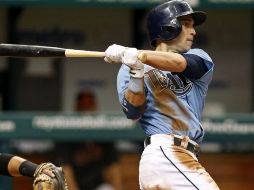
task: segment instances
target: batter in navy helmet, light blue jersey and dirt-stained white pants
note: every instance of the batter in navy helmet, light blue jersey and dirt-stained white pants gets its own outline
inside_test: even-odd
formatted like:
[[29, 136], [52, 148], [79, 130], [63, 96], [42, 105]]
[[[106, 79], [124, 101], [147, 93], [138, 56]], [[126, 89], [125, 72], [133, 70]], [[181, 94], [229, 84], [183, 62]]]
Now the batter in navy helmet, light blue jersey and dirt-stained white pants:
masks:
[[197, 158], [214, 64], [205, 51], [191, 47], [195, 27], [205, 20], [206, 13], [186, 1], [171, 0], [147, 15], [155, 51], [116, 44], [106, 50], [106, 62], [123, 63], [117, 77], [123, 110], [147, 136], [139, 164], [142, 190], [219, 189]]

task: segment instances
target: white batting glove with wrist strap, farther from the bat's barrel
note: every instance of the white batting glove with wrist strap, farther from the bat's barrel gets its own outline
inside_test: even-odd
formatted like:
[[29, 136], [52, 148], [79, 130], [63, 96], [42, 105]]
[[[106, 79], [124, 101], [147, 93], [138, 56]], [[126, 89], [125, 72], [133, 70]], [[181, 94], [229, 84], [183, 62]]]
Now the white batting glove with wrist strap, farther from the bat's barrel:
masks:
[[142, 78], [144, 76], [144, 64], [138, 59], [136, 48], [127, 48], [122, 56], [122, 63], [130, 67], [130, 76]]

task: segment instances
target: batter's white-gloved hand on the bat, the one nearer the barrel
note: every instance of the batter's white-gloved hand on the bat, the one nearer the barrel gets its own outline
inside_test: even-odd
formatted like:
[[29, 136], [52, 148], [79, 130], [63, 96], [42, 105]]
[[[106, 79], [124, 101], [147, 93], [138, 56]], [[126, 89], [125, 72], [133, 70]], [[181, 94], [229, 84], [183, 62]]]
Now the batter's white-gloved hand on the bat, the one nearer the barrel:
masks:
[[126, 49], [127, 47], [113, 44], [106, 49], [104, 60], [108, 63], [120, 63]]

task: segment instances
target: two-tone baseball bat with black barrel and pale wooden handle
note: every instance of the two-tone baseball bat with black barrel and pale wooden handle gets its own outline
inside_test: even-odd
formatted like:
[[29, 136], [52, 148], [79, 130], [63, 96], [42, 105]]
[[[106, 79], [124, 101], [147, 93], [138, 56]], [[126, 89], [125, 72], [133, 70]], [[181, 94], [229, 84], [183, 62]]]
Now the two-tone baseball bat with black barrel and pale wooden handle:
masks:
[[64, 49], [50, 46], [0, 44], [3, 57], [104, 57], [105, 52]]

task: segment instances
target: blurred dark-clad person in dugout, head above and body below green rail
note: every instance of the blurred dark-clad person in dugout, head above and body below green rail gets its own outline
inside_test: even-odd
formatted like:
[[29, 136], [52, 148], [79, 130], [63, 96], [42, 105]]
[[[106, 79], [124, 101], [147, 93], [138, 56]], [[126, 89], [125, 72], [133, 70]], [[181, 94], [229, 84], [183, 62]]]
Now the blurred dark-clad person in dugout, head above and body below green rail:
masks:
[[[89, 90], [79, 92], [75, 110], [81, 114], [95, 113], [97, 102], [94, 93]], [[71, 190], [122, 189], [113, 143], [68, 142], [59, 143], [57, 147], [56, 163], [63, 166]]]

